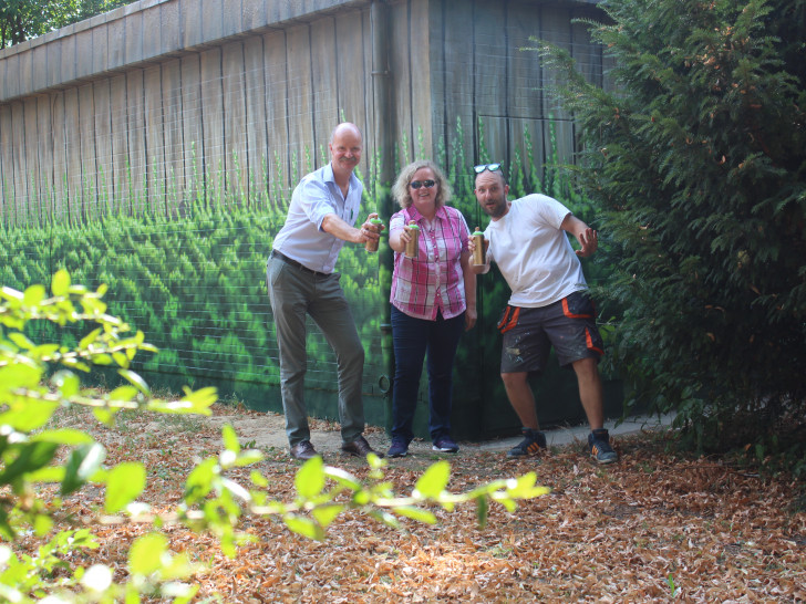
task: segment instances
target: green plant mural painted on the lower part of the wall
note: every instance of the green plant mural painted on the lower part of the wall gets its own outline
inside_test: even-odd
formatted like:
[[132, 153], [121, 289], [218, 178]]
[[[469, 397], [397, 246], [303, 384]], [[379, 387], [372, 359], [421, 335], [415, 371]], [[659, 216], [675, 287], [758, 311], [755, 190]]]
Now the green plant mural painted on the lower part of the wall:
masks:
[[[456, 139], [461, 140], [463, 126], [456, 127]], [[525, 137], [530, 149], [528, 133]], [[422, 140], [412, 146], [422, 149]], [[407, 140], [402, 140], [395, 166], [417, 155]], [[453, 205], [471, 227], [484, 227], [487, 218], [473, 196], [473, 169], [464, 150], [452, 148], [450, 157], [446, 155], [442, 146], [435, 154], [452, 180]], [[492, 160], [484, 145], [480, 158]], [[237, 166], [237, 158], [232, 159]], [[294, 175], [311, 169], [309, 153], [302, 163], [304, 166], [292, 166]], [[378, 181], [381, 166], [374, 158], [368, 158], [366, 165], [368, 176], [359, 173], [365, 184], [361, 214], [381, 210], [382, 216], [389, 216], [394, 209], [382, 207], [389, 204], [389, 186]], [[556, 165], [545, 169], [536, 166], [529, 152], [525, 158], [516, 155], [507, 174], [512, 197], [541, 190], [590, 220], [586, 214], [591, 208], [575, 196]], [[135, 194], [130, 183], [117, 199], [111, 199], [106, 187], [101, 187], [104, 192], [100, 195], [91, 188], [75, 191], [72, 204], [58, 202], [52, 191], [29, 199], [23, 207], [7, 202], [0, 216], [0, 282], [20, 289], [27, 283], [50, 282], [56, 270], [66, 269], [91, 288], [106, 283], [110, 310], [138, 325], [159, 348], [135, 367], [152, 384], [168, 389], [184, 384], [215, 385], [224, 397], [237, 396], [258, 409], [281, 410], [266, 259], [285, 221], [290, 191], [278, 183], [256, 189], [254, 183], [259, 179], [255, 175], [213, 176], [200, 179], [196, 175], [182, 191], [168, 180], [152, 186], [149, 192], [142, 187], [144, 192]], [[226, 186], [207, 187], [208, 183]], [[372, 254], [363, 247], [345, 244], [337, 264], [366, 351], [365, 409], [368, 421], [375, 425], [385, 425], [391, 406], [388, 393], [393, 358], [386, 325], [390, 258], [384, 241], [380, 252]], [[587, 268], [587, 272], [595, 274], [597, 270]], [[478, 295], [479, 322], [463, 337], [455, 365], [454, 426], [459, 438], [517, 427], [498, 377], [495, 331], [509, 290], [494, 271], [480, 278]], [[29, 334], [34, 340], [45, 335]], [[81, 336], [79, 327], [74, 337]], [[308, 342], [309, 407], [317, 416], [337, 417], [333, 353], [312, 323]], [[576, 397], [575, 382], [559, 369], [555, 373], [544, 376], [538, 387], [558, 400]], [[112, 379], [103, 374], [93, 378]], [[559, 409], [557, 419], [568, 418], [568, 410]], [[418, 429], [427, 431], [424, 421], [418, 423]]]

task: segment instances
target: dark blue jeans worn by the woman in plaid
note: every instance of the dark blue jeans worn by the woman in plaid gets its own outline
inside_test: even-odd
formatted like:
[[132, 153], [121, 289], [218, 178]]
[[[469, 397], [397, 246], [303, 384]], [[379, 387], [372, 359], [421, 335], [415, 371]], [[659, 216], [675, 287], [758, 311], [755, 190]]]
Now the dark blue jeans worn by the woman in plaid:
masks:
[[465, 314], [436, 321], [414, 319], [392, 306], [394, 343], [394, 389], [392, 439], [411, 442], [412, 424], [417, 406], [420, 376], [427, 352], [428, 429], [436, 441], [451, 436], [451, 399], [453, 397], [453, 362], [465, 327]]

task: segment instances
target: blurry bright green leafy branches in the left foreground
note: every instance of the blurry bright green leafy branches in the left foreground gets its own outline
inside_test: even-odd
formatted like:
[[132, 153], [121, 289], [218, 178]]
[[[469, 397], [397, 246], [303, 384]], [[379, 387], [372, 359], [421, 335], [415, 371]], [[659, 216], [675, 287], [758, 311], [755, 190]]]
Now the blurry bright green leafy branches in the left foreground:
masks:
[[[548, 492], [536, 486], [536, 475], [530, 472], [453, 494], [446, 490], [450, 465], [441, 461], [423, 473], [411, 494], [399, 497], [384, 479], [386, 462], [370, 455], [368, 482], [316, 458], [298, 471], [293, 501], [271, 501], [266, 490], [269, 481], [260, 472], [251, 471], [250, 488], [227, 477], [230, 470], [260, 461], [262, 454], [242, 450], [235, 430], [225, 426], [224, 450], [190, 471], [183, 503], [172, 513], [153, 514], [148, 506], [136, 501], [146, 486], [143, 464], [106, 467], [106, 450], [89, 433], [52, 429], [49, 421], [59, 409], [71, 406], [91, 409], [106, 426], [112, 426], [124, 409], [210, 415], [216, 392], [186, 388], [179, 400], [153, 398], [147, 384], [130, 366], [138, 351], [155, 348], [144, 342], [141, 332], [131, 335], [125, 322], [106, 314], [104, 293], [103, 285], [89, 291], [71, 283], [65, 271], [53, 277], [50, 296], [43, 285], [31, 285], [23, 292], [0, 289], [0, 538], [11, 542], [0, 544], [0, 597], [4, 601], [23, 603], [50, 596], [59, 602], [141, 602], [147, 595], [189, 602], [198, 585], [188, 579], [204, 567], [186, 554], [170, 552], [161, 529], [172, 522], [211, 532], [225, 553], [234, 556], [236, 546], [249, 539], [236, 532], [247, 514], [278, 517], [291, 531], [322, 539], [327, 528], [347, 510], [397, 527], [399, 518], [435, 523], [436, 516], [425, 506], [438, 504], [452, 511], [459, 503], [475, 502], [478, 522], [484, 525], [490, 501], [514, 511], [518, 500]], [[35, 321], [97, 326], [71, 348], [34, 343], [25, 330], [31, 333], [29, 325]], [[89, 372], [94, 366], [117, 367], [124, 384], [112, 392], [82, 387], [75, 372]], [[63, 497], [87, 483], [105, 487], [103, 510], [93, 512], [94, 521], [153, 525], [153, 531], [135, 540], [128, 550], [125, 583], [116, 583], [114, 570], [105, 564], [83, 567], [73, 562], [81, 559], [75, 552], [96, 549], [99, 542], [85, 527], [63, 525], [69, 520], [59, 510]], [[54, 488], [58, 496], [49, 496]], [[12, 549], [22, 533], [42, 540], [35, 554]]]

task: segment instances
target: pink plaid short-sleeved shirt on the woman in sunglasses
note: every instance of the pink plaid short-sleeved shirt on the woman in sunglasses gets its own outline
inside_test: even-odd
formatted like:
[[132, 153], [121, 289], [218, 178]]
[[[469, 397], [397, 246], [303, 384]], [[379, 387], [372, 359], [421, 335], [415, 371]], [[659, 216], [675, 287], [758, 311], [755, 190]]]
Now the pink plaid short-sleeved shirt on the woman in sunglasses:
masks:
[[394, 253], [390, 302], [415, 319], [435, 321], [437, 311], [444, 319], [462, 314], [466, 303], [459, 257], [467, 250], [471, 235], [464, 216], [456, 208], [442, 206], [428, 226], [411, 206], [392, 216], [390, 235], [411, 220], [420, 227], [420, 250], [416, 259]]

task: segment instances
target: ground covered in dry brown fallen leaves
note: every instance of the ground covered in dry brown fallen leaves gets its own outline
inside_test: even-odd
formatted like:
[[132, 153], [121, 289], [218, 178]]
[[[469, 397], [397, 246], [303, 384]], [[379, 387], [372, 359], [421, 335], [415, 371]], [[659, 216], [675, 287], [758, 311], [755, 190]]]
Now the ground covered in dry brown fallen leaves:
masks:
[[[231, 413], [231, 407], [216, 409]], [[266, 417], [240, 413], [257, 423]], [[80, 415], [62, 421], [91, 424]], [[164, 511], [179, 503], [194, 460], [221, 447], [216, 423], [198, 417], [134, 416], [114, 429], [91, 431], [108, 448], [107, 465], [146, 464], [149, 486], [142, 499]], [[373, 436], [386, 442], [382, 433]], [[250, 519], [240, 529], [257, 539], [234, 559], [223, 555], [209, 535], [180, 527], [166, 532], [174, 551], [208, 566], [197, 577], [199, 601], [216, 594], [232, 603], [805, 601], [803, 486], [724, 459], [666, 452], [671, 436], [618, 439], [621, 461], [610, 467], [598, 467], [578, 446], [516, 461], [463, 446], [448, 457], [453, 492], [533, 470], [551, 489], [515, 513], [493, 504], [484, 529], [473, 506], [453, 513], [436, 510], [436, 525], [404, 520], [402, 530], [349, 513], [321, 542], [291, 533], [276, 519]], [[232, 478], [249, 485], [249, 471], [257, 469], [268, 478], [272, 499], [292, 500], [299, 464], [282, 448], [265, 452], [265, 461]], [[393, 459], [386, 476], [405, 494], [444, 457]], [[356, 458], [333, 456], [326, 462], [359, 477], [368, 471]], [[95, 524], [94, 510], [102, 502], [103, 493], [89, 488], [71, 496], [65, 511], [73, 522], [90, 522], [102, 542], [80, 563], [112, 564], [120, 579], [128, 544], [148, 527]]]

